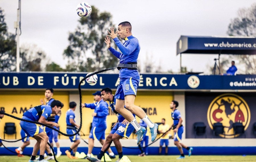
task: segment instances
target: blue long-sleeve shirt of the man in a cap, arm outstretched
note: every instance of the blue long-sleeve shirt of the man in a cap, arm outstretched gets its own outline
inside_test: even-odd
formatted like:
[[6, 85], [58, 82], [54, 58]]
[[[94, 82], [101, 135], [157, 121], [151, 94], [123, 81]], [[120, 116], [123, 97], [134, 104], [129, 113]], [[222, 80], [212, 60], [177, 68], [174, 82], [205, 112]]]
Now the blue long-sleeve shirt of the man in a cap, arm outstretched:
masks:
[[92, 127], [100, 126], [107, 128], [106, 118], [108, 116], [108, 103], [101, 99], [97, 103], [85, 104], [85, 107], [94, 109], [94, 112], [97, 113], [97, 115], [93, 117]]

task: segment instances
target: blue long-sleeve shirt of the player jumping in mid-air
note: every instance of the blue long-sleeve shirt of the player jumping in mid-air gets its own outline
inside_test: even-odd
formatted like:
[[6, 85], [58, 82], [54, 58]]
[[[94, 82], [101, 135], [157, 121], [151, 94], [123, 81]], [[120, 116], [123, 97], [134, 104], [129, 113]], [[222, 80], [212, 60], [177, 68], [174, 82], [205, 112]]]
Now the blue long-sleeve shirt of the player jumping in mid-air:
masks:
[[[120, 59], [119, 63], [127, 64], [138, 61], [141, 47], [137, 38], [131, 35], [125, 38], [125, 42], [123, 44], [117, 37], [113, 40], [121, 52], [118, 52], [112, 47], [110, 47], [109, 50], [115, 57]], [[127, 68], [119, 70], [119, 78], [130, 78], [139, 75], [138, 70], [129, 70]]]

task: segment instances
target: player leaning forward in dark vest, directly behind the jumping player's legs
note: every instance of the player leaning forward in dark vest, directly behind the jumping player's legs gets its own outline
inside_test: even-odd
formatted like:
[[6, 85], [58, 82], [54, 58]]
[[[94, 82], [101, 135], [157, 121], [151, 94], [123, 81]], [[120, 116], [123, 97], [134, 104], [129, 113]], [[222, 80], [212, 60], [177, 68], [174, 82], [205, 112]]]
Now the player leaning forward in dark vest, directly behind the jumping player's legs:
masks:
[[[101, 97], [104, 101], [109, 101], [109, 106], [111, 107], [112, 111], [117, 115], [117, 122], [113, 125], [112, 130], [110, 131], [110, 134], [106, 138], [106, 141], [103, 144], [101, 151], [97, 155], [97, 157], [95, 158], [88, 157], [88, 159], [92, 162], [100, 161], [105, 153], [104, 151], [108, 148], [108, 146], [113, 140], [115, 144], [115, 148], [119, 155], [119, 158], [117, 159], [117, 162], [118, 162], [123, 157], [123, 148], [122, 148], [120, 139], [123, 137], [129, 138], [129, 136], [134, 130], [134, 127], [122, 115], [118, 114], [118, 112], [115, 111], [116, 99], [115, 99], [115, 96], [112, 94], [112, 90], [110, 88], [102, 89]], [[135, 116], [135, 114], [133, 115]], [[110, 155], [110, 158], [115, 158], [115, 156]]]

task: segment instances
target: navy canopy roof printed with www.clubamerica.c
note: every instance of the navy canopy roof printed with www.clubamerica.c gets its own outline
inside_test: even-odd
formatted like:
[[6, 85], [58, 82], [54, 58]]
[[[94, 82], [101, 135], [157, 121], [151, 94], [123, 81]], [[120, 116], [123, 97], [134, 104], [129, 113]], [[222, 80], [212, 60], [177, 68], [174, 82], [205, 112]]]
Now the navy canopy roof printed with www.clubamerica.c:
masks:
[[198, 37], [181, 35], [178, 54], [256, 54], [255, 37]]

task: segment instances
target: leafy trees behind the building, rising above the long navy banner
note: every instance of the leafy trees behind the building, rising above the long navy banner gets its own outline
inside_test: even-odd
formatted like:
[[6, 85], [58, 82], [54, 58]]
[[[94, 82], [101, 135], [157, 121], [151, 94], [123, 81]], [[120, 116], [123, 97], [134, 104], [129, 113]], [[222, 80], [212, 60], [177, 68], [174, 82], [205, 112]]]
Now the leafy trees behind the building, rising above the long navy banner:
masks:
[[[109, 12], [100, 12], [92, 6], [92, 14], [87, 18], [79, 19], [75, 31], [69, 32], [69, 45], [63, 50], [63, 58], [68, 60], [65, 68], [46, 57], [46, 53], [36, 44], [22, 44], [20, 46], [20, 71], [70, 71], [86, 72], [98, 71], [115, 67], [118, 59], [106, 50], [105, 31], [113, 26], [112, 15]], [[229, 36], [256, 37], [256, 3], [249, 8], [238, 10], [238, 16], [233, 18], [229, 25]], [[3, 9], [0, 7], [0, 71], [16, 71], [16, 35], [8, 32]], [[116, 46], [113, 48], [117, 49]], [[245, 67], [239, 69], [241, 74], [256, 74], [256, 55], [229, 55], [220, 60], [220, 71], [225, 72], [231, 60]], [[150, 56], [146, 54], [146, 64], [143, 66], [146, 73], [161, 73], [161, 66], [154, 65]], [[211, 66], [208, 67], [212, 71]], [[141, 70], [141, 69], [139, 69]], [[181, 72], [187, 72], [186, 67]], [[173, 73], [170, 69], [169, 73]]]

